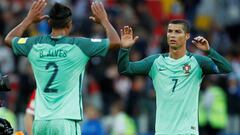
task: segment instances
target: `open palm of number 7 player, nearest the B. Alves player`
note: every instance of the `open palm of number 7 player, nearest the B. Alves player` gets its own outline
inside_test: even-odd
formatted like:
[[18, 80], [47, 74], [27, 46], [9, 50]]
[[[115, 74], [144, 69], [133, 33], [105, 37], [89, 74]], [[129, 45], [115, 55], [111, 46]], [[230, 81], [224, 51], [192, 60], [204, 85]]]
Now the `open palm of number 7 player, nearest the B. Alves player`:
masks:
[[124, 26], [121, 29], [121, 47], [131, 48], [133, 44], [137, 41], [138, 36], [133, 37], [133, 30], [129, 26]]

